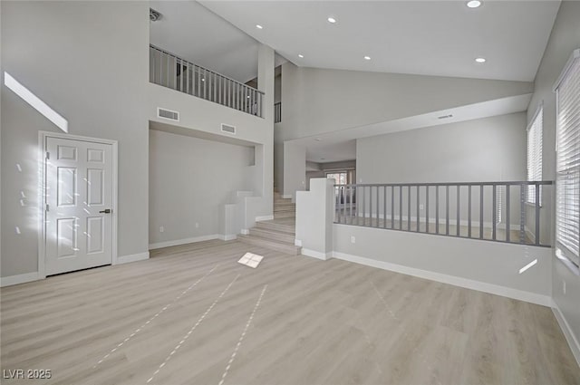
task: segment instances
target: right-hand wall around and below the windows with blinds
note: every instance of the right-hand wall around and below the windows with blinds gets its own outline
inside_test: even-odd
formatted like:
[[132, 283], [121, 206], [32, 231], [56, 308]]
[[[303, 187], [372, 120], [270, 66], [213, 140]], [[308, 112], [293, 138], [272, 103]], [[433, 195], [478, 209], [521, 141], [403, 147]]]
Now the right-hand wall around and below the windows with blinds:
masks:
[[[544, 179], [556, 178], [556, 94], [552, 87], [572, 51], [580, 48], [580, 2], [564, 1], [556, 16], [556, 23], [552, 29], [546, 52], [536, 74], [534, 95], [527, 111], [528, 121], [532, 119], [537, 105], [544, 103], [544, 137], [542, 160]], [[552, 204], [554, 197], [545, 197], [545, 204]], [[547, 200], [547, 201], [546, 201]], [[555, 223], [553, 219], [552, 223]], [[576, 341], [580, 341], [580, 276], [574, 274], [562, 262], [553, 261], [553, 295], [558, 307], [564, 314], [565, 320], [575, 334]], [[565, 283], [566, 294], [563, 286]], [[576, 359], [580, 361], [580, 345], [576, 347]]]

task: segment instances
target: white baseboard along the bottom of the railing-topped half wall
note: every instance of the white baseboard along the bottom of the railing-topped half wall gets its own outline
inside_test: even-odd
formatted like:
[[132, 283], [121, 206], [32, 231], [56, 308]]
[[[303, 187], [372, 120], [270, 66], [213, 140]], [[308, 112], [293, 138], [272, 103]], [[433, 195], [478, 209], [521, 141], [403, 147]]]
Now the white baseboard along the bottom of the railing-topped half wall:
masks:
[[442, 284], [452, 284], [454, 286], [465, 287], [466, 289], [477, 290], [489, 294], [501, 295], [507, 298], [513, 298], [527, 303], [536, 303], [544, 306], [552, 305], [552, 297], [543, 294], [525, 292], [523, 290], [513, 289], [510, 287], [499, 286], [498, 284], [487, 284], [485, 282], [474, 281], [467, 278], [461, 278], [454, 275], [440, 274], [427, 270], [417, 269], [415, 267], [391, 264], [389, 262], [377, 261], [376, 259], [366, 258], [358, 255], [349, 255], [339, 252], [333, 252], [333, 257], [344, 261], [354, 262], [355, 264], [367, 265], [383, 270], [389, 270], [395, 273], [407, 274], [419, 278], [429, 279]]

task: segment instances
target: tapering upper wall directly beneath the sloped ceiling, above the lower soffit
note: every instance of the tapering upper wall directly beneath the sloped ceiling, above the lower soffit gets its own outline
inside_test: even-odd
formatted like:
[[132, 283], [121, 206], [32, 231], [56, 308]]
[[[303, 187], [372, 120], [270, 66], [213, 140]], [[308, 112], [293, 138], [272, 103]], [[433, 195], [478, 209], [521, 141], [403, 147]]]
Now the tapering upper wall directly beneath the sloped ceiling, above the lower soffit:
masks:
[[530, 93], [531, 82], [282, 66], [284, 130], [291, 140]]

